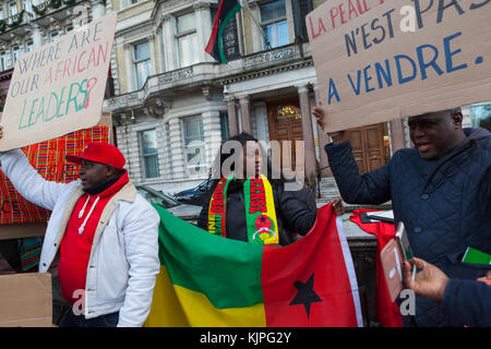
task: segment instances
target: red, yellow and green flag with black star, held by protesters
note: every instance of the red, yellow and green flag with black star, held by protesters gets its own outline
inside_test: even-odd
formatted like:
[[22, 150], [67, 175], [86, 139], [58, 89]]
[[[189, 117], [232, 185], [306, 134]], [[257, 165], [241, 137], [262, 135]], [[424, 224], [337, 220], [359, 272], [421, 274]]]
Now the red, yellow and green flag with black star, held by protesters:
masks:
[[362, 326], [355, 268], [332, 204], [287, 246], [215, 236], [155, 208], [161, 267], [145, 326]]

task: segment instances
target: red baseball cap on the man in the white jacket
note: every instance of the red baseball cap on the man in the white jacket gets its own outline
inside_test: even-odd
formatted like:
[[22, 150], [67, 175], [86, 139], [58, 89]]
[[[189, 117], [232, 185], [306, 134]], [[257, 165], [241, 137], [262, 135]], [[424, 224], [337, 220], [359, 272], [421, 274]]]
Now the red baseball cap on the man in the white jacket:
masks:
[[69, 163], [82, 165], [82, 160], [110, 165], [119, 170], [122, 170], [127, 163], [122, 153], [108, 143], [89, 143], [82, 156], [67, 155], [67, 161]]

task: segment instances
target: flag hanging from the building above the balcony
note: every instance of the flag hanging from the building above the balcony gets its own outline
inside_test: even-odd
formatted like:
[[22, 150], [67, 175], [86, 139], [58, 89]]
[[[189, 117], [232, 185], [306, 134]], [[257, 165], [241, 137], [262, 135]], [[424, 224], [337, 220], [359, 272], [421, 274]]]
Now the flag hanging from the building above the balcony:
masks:
[[216, 13], [215, 22], [213, 24], [213, 32], [209, 36], [208, 45], [205, 51], [209, 53], [217, 61], [227, 64], [227, 59], [225, 58], [224, 45], [221, 36], [224, 34], [225, 26], [227, 22], [230, 21], [237, 12], [241, 9], [237, 0], [221, 0], [218, 5], [218, 11]]

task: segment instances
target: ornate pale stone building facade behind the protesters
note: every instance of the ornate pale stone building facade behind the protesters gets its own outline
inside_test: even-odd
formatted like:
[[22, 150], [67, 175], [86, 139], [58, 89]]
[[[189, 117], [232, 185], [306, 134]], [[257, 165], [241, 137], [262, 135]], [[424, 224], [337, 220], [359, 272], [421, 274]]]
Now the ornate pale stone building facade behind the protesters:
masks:
[[[249, 0], [224, 35], [228, 63], [204, 48], [218, 0], [0, 1], [0, 87], [15, 60], [76, 25], [118, 15], [109, 97], [116, 142], [132, 180], [167, 193], [208, 177], [223, 140], [241, 131], [266, 145], [303, 141], [307, 177], [331, 172], [327, 137], [311, 116], [319, 101], [304, 17], [322, 0]], [[112, 84], [113, 82], [113, 84]], [[487, 105], [478, 106], [480, 115]], [[476, 123], [465, 108], [465, 125]], [[477, 119], [476, 119], [477, 120]], [[407, 122], [350, 130], [362, 172], [410, 146]], [[292, 165], [296, 161], [292, 143]], [[300, 160], [299, 160], [300, 163]]]

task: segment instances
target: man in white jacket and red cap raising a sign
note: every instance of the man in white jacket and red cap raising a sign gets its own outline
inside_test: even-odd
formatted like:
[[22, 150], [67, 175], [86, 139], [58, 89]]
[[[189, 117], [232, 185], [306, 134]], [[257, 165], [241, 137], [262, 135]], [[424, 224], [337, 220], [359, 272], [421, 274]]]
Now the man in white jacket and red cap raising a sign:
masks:
[[82, 165], [80, 180], [68, 184], [45, 180], [21, 149], [0, 153], [21, 195], [52, 210], [39, 272], [59, 254], [62, 294], [72, 304], [60, 326], [142, 326], [160, 267], [159, 216], [136, 193], [115, 146], [92, 143], [67, 160]]

